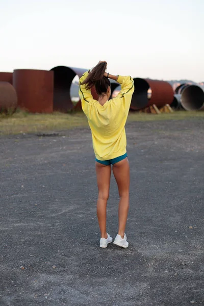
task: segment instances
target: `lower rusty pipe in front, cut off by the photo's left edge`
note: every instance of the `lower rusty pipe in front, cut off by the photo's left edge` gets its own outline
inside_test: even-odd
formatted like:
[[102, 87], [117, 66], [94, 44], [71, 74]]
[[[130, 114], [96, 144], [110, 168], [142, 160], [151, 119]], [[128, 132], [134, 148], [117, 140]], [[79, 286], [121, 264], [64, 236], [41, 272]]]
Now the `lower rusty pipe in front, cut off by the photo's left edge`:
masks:
[[9, 82], [0, 82], [0, 111], [15, 111], [17, 108], [17, 94]]

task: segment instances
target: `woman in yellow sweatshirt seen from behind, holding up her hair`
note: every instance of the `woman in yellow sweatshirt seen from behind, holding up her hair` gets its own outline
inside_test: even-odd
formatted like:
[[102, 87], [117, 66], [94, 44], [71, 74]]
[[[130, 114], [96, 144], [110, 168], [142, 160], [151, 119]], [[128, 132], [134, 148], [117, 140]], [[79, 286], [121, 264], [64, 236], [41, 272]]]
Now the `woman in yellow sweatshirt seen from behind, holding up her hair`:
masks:
[[[100, 247], [107, 247], [112, 238], [106, 232], [106, 207], [109, 198], [111, 165], [120, 196], [118, 218], [119, 229], [114, 244], [128, 247], [125, 225], [129, 210], [130, 168], [126, 154], [125, 123], [129, 113], [134, 82], [131, 77], [121, 77], [106, 72], [107, 62], [99, 63], [85, 72], [79, 81], [79, 95], [82, 109], [88, 118], [92, 133], [93, 149], [96, 156], [96, 177], [98, 185], [97, 217], [100, 227]], [[110, 99], [109, 79], [121, 84], [119, 94]], [[91, 95], [95, 87], [98, 100]]]

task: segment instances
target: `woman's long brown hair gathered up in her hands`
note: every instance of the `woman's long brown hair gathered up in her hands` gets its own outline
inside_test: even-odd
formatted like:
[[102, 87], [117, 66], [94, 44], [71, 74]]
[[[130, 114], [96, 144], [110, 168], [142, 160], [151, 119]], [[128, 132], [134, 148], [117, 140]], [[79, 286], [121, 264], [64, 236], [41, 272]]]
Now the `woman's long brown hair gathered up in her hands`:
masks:
[[86, 80], [84, 80], [84, 82], [82, 82], [80, 85], [86, 84], [86, 89], [91, 89], [92, 86], [95, 86], [95, 90], [98, 95], [106, 93], [108, 87], [111, 86], [109, 79], [104, 77], [106, 66], [106, 62], [97, 64], [89, 73]]

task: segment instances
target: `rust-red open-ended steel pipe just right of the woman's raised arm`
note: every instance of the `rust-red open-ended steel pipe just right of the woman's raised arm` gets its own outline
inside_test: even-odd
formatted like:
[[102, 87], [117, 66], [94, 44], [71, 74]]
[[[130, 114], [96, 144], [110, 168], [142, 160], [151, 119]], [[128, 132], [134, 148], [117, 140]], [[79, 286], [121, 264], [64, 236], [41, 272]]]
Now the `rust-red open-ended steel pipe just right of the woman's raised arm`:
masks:
[[[150, 105], [163, 107], [166, 104], [171, 105], [173, 101], [173, 89], [168, 82], [150, 80], [150, 79], [134, 79], [135, 91], [133, 93], [131, 109], [139, 110]], [[151, 89], [151, 97], [148, 99], [148, 89]]]

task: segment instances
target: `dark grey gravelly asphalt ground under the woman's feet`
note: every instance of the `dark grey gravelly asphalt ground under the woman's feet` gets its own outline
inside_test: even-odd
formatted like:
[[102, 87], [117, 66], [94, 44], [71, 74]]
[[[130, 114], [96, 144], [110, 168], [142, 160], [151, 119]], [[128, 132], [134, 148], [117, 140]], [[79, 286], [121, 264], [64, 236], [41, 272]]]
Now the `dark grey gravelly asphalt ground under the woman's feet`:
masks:
[[[1, 137], [0, 305], [204, 305], [203, 124], [127, 124], [127, 249], [98, 246], [89, 129]], [[113, 238], [117, 206], [112, 177]]]

